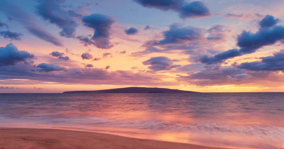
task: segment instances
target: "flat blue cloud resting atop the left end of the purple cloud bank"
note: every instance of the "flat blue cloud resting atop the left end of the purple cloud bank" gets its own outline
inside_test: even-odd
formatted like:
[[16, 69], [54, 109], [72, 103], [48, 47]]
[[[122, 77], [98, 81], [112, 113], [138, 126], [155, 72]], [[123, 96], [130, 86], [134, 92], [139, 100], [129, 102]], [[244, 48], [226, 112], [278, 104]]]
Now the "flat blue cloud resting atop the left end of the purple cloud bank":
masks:
[[36, 67], [37, 69], [31, 69], [32, 72], [67, 71], [66, 68], [60, 67], [59, 65], [55, 65], [55, 64], [41, 63], [34, 67]]

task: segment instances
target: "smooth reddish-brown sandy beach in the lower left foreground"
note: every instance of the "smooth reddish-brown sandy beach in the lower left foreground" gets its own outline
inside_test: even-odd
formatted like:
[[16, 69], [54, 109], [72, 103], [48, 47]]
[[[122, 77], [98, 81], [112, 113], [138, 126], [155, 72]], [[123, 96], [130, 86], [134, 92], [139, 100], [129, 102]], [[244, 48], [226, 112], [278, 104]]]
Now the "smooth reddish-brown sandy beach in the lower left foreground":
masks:
[[59, 129], [0, 128], [0, 149], [221, 149]]

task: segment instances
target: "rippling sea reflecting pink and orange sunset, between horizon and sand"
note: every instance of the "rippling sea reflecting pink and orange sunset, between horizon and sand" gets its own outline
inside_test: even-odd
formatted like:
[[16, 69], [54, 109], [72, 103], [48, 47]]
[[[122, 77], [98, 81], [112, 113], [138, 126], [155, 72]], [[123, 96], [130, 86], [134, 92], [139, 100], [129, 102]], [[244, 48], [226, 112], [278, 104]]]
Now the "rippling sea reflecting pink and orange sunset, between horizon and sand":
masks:
[[53, 128], [227, 148], [284, 148], [284, 93], [14, 94], [0, 127]]

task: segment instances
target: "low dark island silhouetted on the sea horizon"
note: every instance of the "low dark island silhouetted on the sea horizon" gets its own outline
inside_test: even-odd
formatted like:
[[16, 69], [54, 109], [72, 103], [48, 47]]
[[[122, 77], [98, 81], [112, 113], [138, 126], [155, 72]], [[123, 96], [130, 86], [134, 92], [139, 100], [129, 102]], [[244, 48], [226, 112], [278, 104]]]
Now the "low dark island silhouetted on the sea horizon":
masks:
[[97, 91], [67, 91], [63, 93], [199, 93], [193, 91], [183, 91], [178, 89], [165, 89], [157, 87], [126, 87], [119, 89], [104, 89]]

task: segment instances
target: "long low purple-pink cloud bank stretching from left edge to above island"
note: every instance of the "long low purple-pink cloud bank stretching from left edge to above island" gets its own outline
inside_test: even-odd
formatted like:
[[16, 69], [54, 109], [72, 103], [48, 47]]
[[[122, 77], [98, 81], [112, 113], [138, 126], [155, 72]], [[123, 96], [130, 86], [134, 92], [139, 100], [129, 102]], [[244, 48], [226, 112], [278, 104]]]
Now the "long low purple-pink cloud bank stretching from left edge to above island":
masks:
[[[57, 82], [72, 84], [109, 84], [109, 85], [179, 85], [178, 81], [165, 81], [167, 75], [147, 72], [132, 72], [131, 70], [108, 71], [101, 68], [88, 68], [82, 74], [76, 75], [77, 68], [66, 68], [65, 71], [39, 73], [30, 71], [32, 65], [17, 63], [13, 66], [0, 67], [0, 78], [29, 79], [39, 82]], [[29, 81], [30, 82], [30, 81]]]

